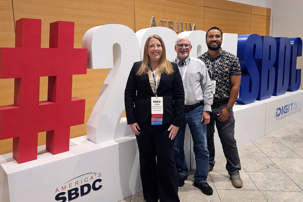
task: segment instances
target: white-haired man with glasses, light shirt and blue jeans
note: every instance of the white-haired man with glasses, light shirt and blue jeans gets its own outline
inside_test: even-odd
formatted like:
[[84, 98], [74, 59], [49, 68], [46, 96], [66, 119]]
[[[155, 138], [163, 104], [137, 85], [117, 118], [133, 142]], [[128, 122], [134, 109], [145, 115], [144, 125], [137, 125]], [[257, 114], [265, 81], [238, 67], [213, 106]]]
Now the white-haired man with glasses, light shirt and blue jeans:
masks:
[[178, 185], [182, 187], [187, 179], [188, 167], [184, 154], [184, 136], [188, 124], [194, 142], [197, 171], [194, 186], [204, 194], [211, 195], [213, 190], [206, 182], [208, 176], [208, 158], [206, 124], [209, 123], [211, 104], [213, 102], [212, 84], [204, 62], [189, 56], [191, 42], [188, 37], [176, 40], [177, 57], [173, 62], [178, 68], [185, 91], [185, 115], [175, 137], [174, 158], [178, 172]]

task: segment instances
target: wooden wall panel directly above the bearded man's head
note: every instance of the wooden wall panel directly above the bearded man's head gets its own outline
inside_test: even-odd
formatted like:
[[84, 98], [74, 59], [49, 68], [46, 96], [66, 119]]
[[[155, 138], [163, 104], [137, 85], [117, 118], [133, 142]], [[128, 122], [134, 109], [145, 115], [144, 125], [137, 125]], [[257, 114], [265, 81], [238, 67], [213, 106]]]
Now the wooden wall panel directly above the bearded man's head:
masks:
[[250, 34], [251, 14], [205, 7], [204, 27], [219, 27], [225, 33]]

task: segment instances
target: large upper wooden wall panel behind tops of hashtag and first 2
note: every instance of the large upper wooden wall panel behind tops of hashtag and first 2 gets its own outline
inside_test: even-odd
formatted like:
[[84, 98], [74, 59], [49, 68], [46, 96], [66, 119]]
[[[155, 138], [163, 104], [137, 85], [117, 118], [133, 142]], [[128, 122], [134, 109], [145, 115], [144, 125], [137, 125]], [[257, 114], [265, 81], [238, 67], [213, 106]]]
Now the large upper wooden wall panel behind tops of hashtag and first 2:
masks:
[[42, 19], [42, 48], [48, 48], [49, 23], [58, 20], [75, 22], [75, 48], [82, 47], [83, 35], [95, 26], [115, 23], [135, 30], [134, 0], [13, 0], [13, 5], [15, 20]]

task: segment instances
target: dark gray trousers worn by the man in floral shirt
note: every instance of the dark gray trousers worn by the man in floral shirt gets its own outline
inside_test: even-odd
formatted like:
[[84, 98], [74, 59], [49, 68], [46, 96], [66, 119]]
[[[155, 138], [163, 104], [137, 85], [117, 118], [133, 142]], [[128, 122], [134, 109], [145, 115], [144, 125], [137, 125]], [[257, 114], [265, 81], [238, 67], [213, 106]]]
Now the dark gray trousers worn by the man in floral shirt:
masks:
[[226, 170], [229, 175], [239, 174], [241, 170], [240, 159], [237, 149], [237, 142], [235, 140], [235, 118], [234, 113], [231, 114], [227, 121], [219, 121], [218, 113], [225, 108], [228, 100], [214, 100], [211, 106], [210, 122], [207, 124], [207, 148], [209, 151], [209, 167], [215, 166], [215, 144], [214, 133], [215, 125], [217, 127], [218, 135], [222, 144], [222, 149], [226, 158]]

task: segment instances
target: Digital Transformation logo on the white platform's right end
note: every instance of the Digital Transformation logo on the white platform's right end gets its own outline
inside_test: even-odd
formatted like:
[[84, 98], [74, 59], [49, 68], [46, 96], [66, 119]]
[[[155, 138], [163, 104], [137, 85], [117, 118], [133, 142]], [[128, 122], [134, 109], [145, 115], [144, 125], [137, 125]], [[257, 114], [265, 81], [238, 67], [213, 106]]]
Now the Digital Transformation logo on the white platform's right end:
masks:
[[275, 112], [276, 121], [287, 118], [301, 111], [300, 101], [295, 101], [278, 107]]

